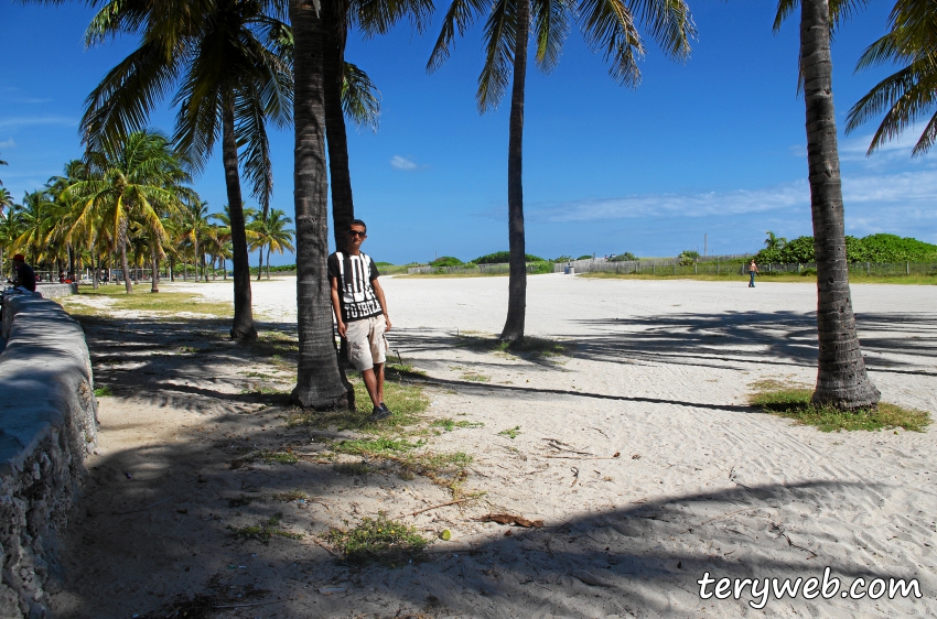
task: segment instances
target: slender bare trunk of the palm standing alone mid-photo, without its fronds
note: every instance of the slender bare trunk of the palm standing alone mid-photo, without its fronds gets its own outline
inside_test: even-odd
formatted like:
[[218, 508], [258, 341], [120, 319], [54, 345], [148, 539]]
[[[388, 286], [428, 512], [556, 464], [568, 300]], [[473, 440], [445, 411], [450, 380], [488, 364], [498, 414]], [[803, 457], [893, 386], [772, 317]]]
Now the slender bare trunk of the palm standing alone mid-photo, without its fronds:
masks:
[[514, 85], [510, 95], [510, 119], [507, 146], [507, 226], [510, 250], [507, 319], [503, 341], [524, 339], [527, 312], [527, 259], [524, 239], [524, 86], [527, 77], [527, 37], [530, 0], [517, 0], [517, 42], [514, 51]]

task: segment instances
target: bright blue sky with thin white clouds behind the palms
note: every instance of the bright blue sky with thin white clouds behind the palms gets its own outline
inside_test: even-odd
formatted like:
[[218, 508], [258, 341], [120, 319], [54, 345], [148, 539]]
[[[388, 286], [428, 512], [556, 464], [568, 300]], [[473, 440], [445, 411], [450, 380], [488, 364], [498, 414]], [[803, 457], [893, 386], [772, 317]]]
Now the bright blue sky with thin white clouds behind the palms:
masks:
[[[82, 3], [83, 4], [83, 3]], [[937, 242], [937, 165], [911, 158], [916, 133], [865, 158], [874, 124], [844, 135], [846, 113], [887, 69], [853, 74], [885, 32], [890, 2], [873, 2], [837, 34], [833, 91], [847, 234], [892, 232]], [[557, 69], [528, 69], [524, 191], [529, 253], [672, 256], [756, 251], [766, 230], [811, 234], [804, 101], [796, 93], [797, 21], [778, 34], [774, 3], [691, 0], [699, 30], [686, 64], [647, 41], [638, 88], [608, 77], [573, 29]], [[444, 4], [440, 3], [440, 9]], [[85, 97], [134, 41], [85, 50], [91, 12], [0, 0], [0, 178], [17, 199], [79, 158]], [[507, 249], [508, 101], [480, 116], [481, 28], [428, 75], [439, 14], [420, 35], [353, 35], [347, 58], [383, 96], [380, 129], [349, 126], [355, 207], [365, 251], [402, 263]], [[154, 127], [172, 129], [163, 109]], [[273, 206], [292, 215], [290, 132], [271, 139]], [[219, 158], [195, 183], [213, 211], [225, 204]], [[254, 260], [256, 262], [256, 260]], [[274, 257], [289, 263], [292, 256]]]

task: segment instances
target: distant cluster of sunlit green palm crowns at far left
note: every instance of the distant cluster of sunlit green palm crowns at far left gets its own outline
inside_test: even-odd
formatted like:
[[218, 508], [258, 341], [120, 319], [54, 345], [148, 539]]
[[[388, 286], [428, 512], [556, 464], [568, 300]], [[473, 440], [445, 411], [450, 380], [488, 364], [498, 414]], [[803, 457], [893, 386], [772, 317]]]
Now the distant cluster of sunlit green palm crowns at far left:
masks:
[[[100, 274], [119, 268], [127, 292], [144, 270], [152, 292], [162, 272], [187, 279], [190, 265], [195, 279], [207, 281], [209, 265], [213, 278], [220, 268], [226, 279], [234, 253], [229, 208], [209, 214], [190, 181], [164, 135], [137, 131], [68, 162], [21, 204], [0, 188], [0, 261], [20, 252], [41, 271], [72, 278], [90, 271], [95, 287]], [[260, 267], [266, 252], [269, 278], [270, 253], [293, 249], [292, 220], [277, 208], [244, 213], [248, 249], [258, 252]]]

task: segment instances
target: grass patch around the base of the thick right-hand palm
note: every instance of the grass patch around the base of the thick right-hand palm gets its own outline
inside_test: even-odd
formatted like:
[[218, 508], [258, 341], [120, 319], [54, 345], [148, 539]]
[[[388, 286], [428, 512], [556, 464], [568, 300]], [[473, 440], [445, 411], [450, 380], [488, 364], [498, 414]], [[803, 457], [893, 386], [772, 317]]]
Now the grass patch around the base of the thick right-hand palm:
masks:
[[818, 406], [810, 402], [811, 389], [785, 385], [777, 381], [760, 381], [752, 385], [755, 392], [750, 402], [765, 412], [791, 419], [800, 425], [812, 425], [822, 432], [855, 430], [880, 431], [903, 427], [908, 432], [924, 432], [930, 414], [915, 409], [880, 402], [874, 410], [843, 411], [836, 406]]

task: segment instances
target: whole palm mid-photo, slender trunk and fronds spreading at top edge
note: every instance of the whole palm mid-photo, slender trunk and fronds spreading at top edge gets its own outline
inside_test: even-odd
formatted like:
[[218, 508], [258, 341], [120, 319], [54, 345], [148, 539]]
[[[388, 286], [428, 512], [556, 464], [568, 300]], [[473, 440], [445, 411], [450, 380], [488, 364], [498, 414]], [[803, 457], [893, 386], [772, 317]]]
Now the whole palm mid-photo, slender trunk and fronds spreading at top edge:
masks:
[[527, 306], [527, 264], [524, 231], [524, 99], [529, 31], [534, 29], [536, 58], [549, 73], [562, 52], [570, 23], [580, 21], [586, 43], [602, 52], [608, 73], [621, 85], [637, 86], [637, 59], [645, 48], [635, 21], [643, 22], [672, 59], [689, 56], [696, 34], [689, 8], [683, 0], [453, 0], [443, 18], [442, 30], [427, 69], [433, 72], [449, 57], [456, 32], [461, 35], [487, 10], [484, 41], [485, 64], [478, 77], [478, 111], [484, 113], [500, 102], [514, 75], [510, 98], [507, 155], [508, 240], [510, 278], [507, 319], [500, 334], [504, 341], [524, 339]]

